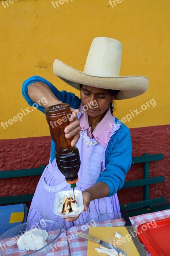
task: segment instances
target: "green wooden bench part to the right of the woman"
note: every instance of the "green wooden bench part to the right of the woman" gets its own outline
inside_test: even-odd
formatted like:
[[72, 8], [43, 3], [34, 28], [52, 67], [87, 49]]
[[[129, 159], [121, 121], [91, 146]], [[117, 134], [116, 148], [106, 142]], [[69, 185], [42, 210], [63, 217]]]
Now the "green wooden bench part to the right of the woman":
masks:
[[122, 188], [143, 186], [143, 201], [122, 204], [120, 206], [121, 209], [125, 209], [127, 211], [130, 217], [170, 209], [170, 204], [164, 204], [166, 202], [164, 197], [150, 199], [149, 186], [151, 184], [164, 182], [164, 176], [149, 177], [149, 162], [158, 160], [163, 160], [163, 154], [149, 155], [145, 153], [141, 157], [132, 157], [132, 164], [143, 163], [143, 179], [125, 181]]

